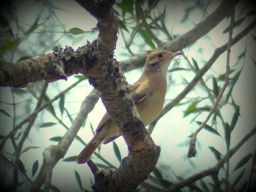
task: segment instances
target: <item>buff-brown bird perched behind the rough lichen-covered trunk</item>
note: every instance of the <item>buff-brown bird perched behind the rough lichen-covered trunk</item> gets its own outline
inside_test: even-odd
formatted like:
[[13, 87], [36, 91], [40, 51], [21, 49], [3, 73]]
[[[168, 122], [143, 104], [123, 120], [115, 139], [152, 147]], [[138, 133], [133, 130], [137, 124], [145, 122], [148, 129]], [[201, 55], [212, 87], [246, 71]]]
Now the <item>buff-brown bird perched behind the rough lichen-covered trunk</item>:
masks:
[[[166, 50], [147, 51], [147, 58], [142, 74], [137, 82], [132, 84], [131, 97], [137, 107], [138, 114], [145, 126], [149, 125], [160, 114], [165, 100], [167, 86], [167, 70], [172, 59], [182, 52], [172, 53]], [[107, 144], [122, 133], [106, 113], [97, 129], [94, 137], [87, 143], [76, 162], [83, 164], [89, 161], [94, 151], [103, 142]]]

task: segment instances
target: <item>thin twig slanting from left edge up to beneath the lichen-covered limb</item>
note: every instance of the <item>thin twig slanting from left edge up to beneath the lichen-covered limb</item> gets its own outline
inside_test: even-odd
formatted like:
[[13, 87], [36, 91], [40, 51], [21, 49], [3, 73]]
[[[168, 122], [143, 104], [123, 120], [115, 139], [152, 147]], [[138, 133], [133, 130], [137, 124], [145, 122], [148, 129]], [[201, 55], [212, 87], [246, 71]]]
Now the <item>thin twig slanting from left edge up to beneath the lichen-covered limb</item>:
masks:
[[5, 137], [2, 139], [1, 145], [0, 145], [0, 150], [2, 150], [2, 148], [4, 147], [4, 143], [5, 141], [9, 138], [12, 137], [12, 135], [14, 135], [16, 133], [17, 130], [21, 129], [21, 126], [27, 122], [29, 122], [35, 115], [37, 115], [39, 112], [41, 112], [43, 109], [45, 109], [47, 106], [49, 106], [52, 102], [58, 100], [61, 95], [65, 94], [66, 92], [68, 92], [69, 90], [71, 90], [72, 88], [74, 88], [77, 84], [81, 83], [84, 79], [81, 78], [79, 79], [76, 83], [74, 83], [73, 85], [69, 86], [66, 90], [60, 92], [59, 94], [57, 94], [52, 100], [44, 103], [44, 105], [42, 105], [41, 107], [35, 109], [33, 111], [33, 113], [31, 113], [27, 118], [23, 119], [22, 122], [20, 122], [17, 126], [15, 126], [15, 128], [8, 133], [7, 135], [5, 135]]

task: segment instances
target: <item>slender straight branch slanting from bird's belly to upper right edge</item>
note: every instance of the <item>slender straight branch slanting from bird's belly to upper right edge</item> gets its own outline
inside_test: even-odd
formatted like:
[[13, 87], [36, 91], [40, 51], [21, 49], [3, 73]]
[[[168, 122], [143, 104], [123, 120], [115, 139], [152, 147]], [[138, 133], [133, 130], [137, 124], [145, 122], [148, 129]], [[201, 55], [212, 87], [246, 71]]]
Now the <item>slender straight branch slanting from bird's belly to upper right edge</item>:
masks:
[[[254, 20], [252, 23], [250, 23], [244, 30], [241, 31], [241, 33], [237, 34], [231, 41], [231, 46], [236, 44], [238, 41], [240, 41], [244, 36], [246, 36], [252, 29], [256, 27], [256, 20]], [[170, 111], [177, 103], [179, 103], [197, 84], [198, 81], [202, 78], [202, 76], [206, 73], [207, 70], [211, 68], [213, 63], [219, 58], [219, 56], [227, 50], [228, 44], [222, 45], [221, 47], [218, 47], [215, 49], [212, 57], [205, 63], [205, 65], [198, 71], [196, 76], [191, 80], [191, 82], [185, 87], [185, 89], [177, 95], [171, 102], [167, 103], [163, 110], [161, 111], [161, 114], [155, 119], [153, 123], [149, 125], [149, 133], [151, 133], [158, 122], [158, 120], [163, 117], [168, 111]]]

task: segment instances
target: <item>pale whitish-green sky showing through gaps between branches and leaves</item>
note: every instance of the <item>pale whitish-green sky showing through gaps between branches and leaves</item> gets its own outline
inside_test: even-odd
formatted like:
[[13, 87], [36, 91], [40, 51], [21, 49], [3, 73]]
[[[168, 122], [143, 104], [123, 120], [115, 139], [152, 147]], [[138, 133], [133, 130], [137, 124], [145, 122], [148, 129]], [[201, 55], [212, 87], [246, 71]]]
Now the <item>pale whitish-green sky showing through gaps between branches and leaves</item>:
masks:
[[[181, 23], [181, 19], [184, 15], [184, 10], [188, 6], [189, 2], [181, 2], [181, 1], [161, 1], [158, 4], [158, 10], [155, 13], [164, 9], [166, 6], [167, 18], [166, 18], [166, 26], [171, 32], [171, 34], [183, 34], [189, 29], [193, 28], [196, 23], [202, 20], [202, 14], [197, 9], [191, 12], [189, 15], [189, 19], [185, 23]], [[178, 3], [179, 2], [179, 3]], [[211, 13], [216, 7], [219, 5], [220, 1], [213, 1], [213, 3], [207, 9], [208, 13]], [[55, 14], [58, 17], [60, 23], [65, 26], [68, 30], [73, 27], [78, 27], [83, 30], [90, 30], [94, 28], [97, 24], [97, 21], [87, 13], [81, 6], [79, 6], [74, 1], [53, 1], [52, 4], [60, 7], [61, 9], [65, 10], [56, 10]], [[242, 6], [241, 6], [242, 7]], [[236, 10], [236, 15], [239, 13], [238, 7]], [[35, 15], [38, 12], [38, 6], [33, 1], [19, 1], [17, 2], [17, 16], [19, 20], [24, 23], [24, 27], [28, 27], [31, 23], [35, 20]], [[253, 18], [247, 18], [239, 28], [234, 30], [234, 36], [239, 33], [244, 27], [248, 25], [253, 20]], [[198, 66], [202, 67], [204, 63], [210, 59], [213, 51], [216, 47], [219, 47], [225, 44], [228, 41], [228, 34], [222, 34], [222, 31], [227, 27], [229, 24], [229, 20], [224, 19], [217, 27], [215, 27], [206, 37], [199, 39], [195, 44], [190, 47], [187, 47], [183, 51], [187, 55], [187, 57], [191, 60], [193, 57], [197, 62]], [[255, 41], [253, 41], [252, 34], [255, 34], [255, 29], [251, 31], [249, 35], [242, 39], [239, 43], [231, 48], [231, 56], [230, 56], [230, 65], [233, 66], [237, 62], [237, 55], [241, 54], [244, 50], [246, 45], [247, 52], [245, 59], [239, 61], [237, 65], [237, 69], [243, 66], [243, 71], [241, 76], [239, 77], [239, 81], [237, 82], [233, 96], [236, 104], [241, 106], [238, 122], [236, 124], [235, 130], [231, 134], [231, 141], [230, 147], [238, 143], [241, 138], [249, 132], [256, 124], [255, 119], [255, 74], [256, 74], [256, 66], [253, 64], [251, 57], [256, 59], [255, 55]], [[86, 44], [86, 41], [92, 42], [95, 38], [97, 38], [97, 33], [94, 34], [85, 34], [80, 36], [75, 36], [75, 39], [70, 39], [67, 37], [62, 37], [56, 45], [65, 47], [72, 46], [74, 50], [77, 49], [79, 46], [83, 46]], [[61, 34], [55, 34], [54, 39], [58, 39]], [[35, 38], [38, 38], [36, 35], [31, 35], [27, 42], [23, 42], [20, 45], [20, 49], [27, 49], [30, 46], [30, 43], [33, 42]], [[165, 41], [166, 39], [162, 39]], [[143, 41], [141, 37], [138, 35], [135, 37], [134, 42], [137, 44], [142, 44]], [[50, 45], [49, 45], [50, 46]], [[53, 47], [53, 46], [52, 46]], [[202, 47], [203, 53], [198, 52], [198, 49]], [[131, 46], [131, 49], [134, 53], [143, 53], [144, 51], [150, 50], [150, 47], [147, 45], [144, 49], [141, 49], [137, 45]], [[33, 51], [31, 51], [32, 53]], [[38, 52], [38, 51], [37, 51]], [[48, 52], [52, 52], [51, 49]], [[38, 52], [38, 55], [42, 52]], [[35, 56], [38, 56], [35, 55]], [[118, 35], [117, 46], [115, 50], [115, 55], [117, 60], [122, 61], [125, 59], [129, 59], [127, 56], [127, 51], [125, 50], [124, 42], [122, 39], [121, 34]], [[218, 76], [218, 74], [225, 73], [226, 70], [226, 52], [220, 55], [219, 59], [214, 63], [212, 68], [205, 74], [204, 79], [209, 78], [207, 81], [207, 85], [212, 87], [211, 77]], [[172, 61], [170, 68], [172, 65], [177, 65], [179, 63], [179, 67], [187, 68], [188, 64], [183, 57], [177, 57]], [[236, 72], [235, 72], [236, 73]], [[139, 78], [141, 74], [141, 69], [130, 71], [129, 73], [125, 73], [127, 81], [132, 84]], [[182, 84], [182, 77], [185, 78], [188, 82], [194, 77], [192, 72], [175, 72], [172, 74], [169, 85], [168, 91], [166, 94], [166, 102], [169, 102], [171, 99], [175, 98], [184, 88]], [[58, 94], [65, 87], [73, 84], [77, 81], [75, 77], [69, 77], [68, 81], [58, 81], [50, 84], [49, 89], [47, 90], [47, 94], [53, 98], [54, 95]], [[41, 84], [42, 85], [42, 84]], [[222, 84], [221, 84], [222, 85]], [[38, 85], [40, 86], [40, 85]], [[82, 101], [84, 100], [85, 96], [92, 90], [92, 86], [89, 85], [87, 81], [82, 82], [77, 87], [72, 89], [70, 92], [66, 94], [65, 98], [65, 107], [68, 109], [69, 114], [73, 115], [75, 118], [76, 114], [79, 111]], [[5, 102], [12, 102], [10, 97], [10, 89], [2, 88], [1, 87], [1, 98], [2, 100], [5, 99]], [[193, 98], [196, 95], [205, 95], [204, 91], [197, 87], [193, 91], [191, 91], [187, 95], [188, 98]], [[21, 101], [24, 98], [18, 97], [17, 100]], [[185, 100], [183, 100], [185, 101]], [[35, 100], [32, 101], [35, 104]], [[181, 101], [182, 102], [182, 101]], [[204, 104], [210, 105], [210, 102], [203, 102]], [[58, 102], [53, 103], [55, 107], [58, 108]], [[4, 106], [3, 106], [4, 107]], [[6, 111], [9, 114], [12, 114], [12, 108], [5, 107]], [[56, 108], [56, 109], [57, 109]], [[175, 175], [179, 175], [181, 177], [187, 178], [190, 175], [197, 173], [201, 170], [208, 169], [210, 166], [213, 166], [217, 163], [214, 155], [209, 150], [209, 146], [213, 146], [215, 149], [218, 149], [220, 153], [223, 155], [226, 154], [226, 145], [224, 137], [219, 137], [214, 135], [210, 132], [202, 130], [198, 135], [198, 142], [197, 142], [197, 155], [195, 158], [188, 159], [188, 136], [198, 128], [198, 125], [195, 122], [190, 123], [191, 119], [193, 119], [194, 115], [187, 116], [183, 118], [183, 111], [186, 110], [187, 105], [174, 107], [165, 117], [161, 118], [152, 134], [152, 138], [155, 141], [156, 145], [161, 147], [161, 156], [159, 157], [157, 167], [164, 168], [163, 175], [165, 179], [175, 179], [173, 174], [170, 174], [170, 170], [175, 173]], [[32, 107], [33, 109], [33, 107]], [[22, 116], [27, 108], [25, 106], [21, 106], [17, 108], [18, 116]], [[92, 113], [89, 114], [85, 127], [82, 127], [81, 130], [78, 132], [78, 135], [84, 139], [85, 142], [88, 142], [93, 134], [90, 130], [90, 123], [92, 124], [93, 128], [95, 129], [103, 116], [105, 114], [105, 107], [102, 105], [101, 100], [97, 103]], [[225, 106], [221, 109], [223, 118], [227, 122], [231, 122], [231, 118], [234, 114], [234, 109], [231, 106]], [[56, 110], [56, 113], [60, 115], [59, 110]], [[200, 115], [196, 121], [204, 121], [206, 113]], [[68, 121], [68, 117], [66, 114], [62, 117], [63, 122], [66, 122], [67, 125], [71, 125]], [[2, 121], [2, 120], [1, 120]], [[41, 147], [39, 149], [31, 149], [25, 155], [21, 156], [22, 161], [26, 166], [26, 170], [28, 175], [31, 174], [31, 169], [33, 163], [38, 159], [39, 166], [42, 165], [42, 154], [46, 146], [55, 145], [56, 142], [49, 141], [50, 138], [56, 136], [62, 136], [65, 134], [66, 129], [63, 129], [59, 124], [54, 125], [52, 127], [39, 129], [39, 125], [42, 123], [47, 122], [56, 122], [54, 118], [47, 112], [42, 112], [42, 115], [38, 117], [35, 123], [35, 129], [32, 129], [29, 135], [29, 140], [25, 142], [23, 148], [28, 146], [38, 146]], [[57, 122], [56, 122], [57, 123]], [[9, 127], [12, 124], [10, 119], [4, 119], [1, 122], [1, 127], [5, 127], [5, 129], [1, 129], [1, 135], [5, 135], [9, 132], [6, 127]], [[218, 132], [221, 135], [224, 135], [223, 128], [219, 123]], [[127, 155], [127, 147], [122, 137], [115, 140], [119, 149], [121, 150], [122, 158]], [[77, 140], [74, 140], [72, 145], [70, 146], [66, 157], [78, 155], [80, 151], [83, 149], [84, 146], [81, 145]], [[238, 153], [234, 155], [233, 158], [230, 160], [230, 172], [232, 173], [234, 166], [237, 164], [239, 159], [247, 155], [248, 153], [253, 153], [255, 150], [255, 135], [249, 141], [245, 143], [241, 149], [239, 149]], [[101, 155], [105, 157], [108, 161], [113, 163], [115, 166], [119, 165], [117, 158], [113, 153], [113, 144], [110, 143], [108, 145], [104, 145], [101, 147]], [[96, 162], [100, 162], [95, 160]], [[250, 162], [252, 159], [250, 160]], [[191, 166], [193, 163], [194, 167]], [[251, 163], [249, 163], [251, 166]], [[248, 165], [249, 165], [248, 164]], [[2, 164], [3, 168], [4, 165]], [[2, 169], [1, 169], [2, 170]], [[53, 185], [57, 186], [61, 191], [70, 191], [76, 190], [79, 191], [79, 187], [77, 185], [74, 170], [78, 171], [81, 175], [81, 179], [83, 181], [83, 187], [87, 187], [90, 189], [90, 180], [89, 177], [92, 177], [91, 171], [88, 169], [87, 165], [77, 165], [74, 162], [62, 162], [60, 161], [53, 170], [53, 177], [52, 183]], [[165, 170], [165, 171], [164, 171]], [[241, 169], [242, 170], [242, 169]], [[241, 170], [238, 170], [232, 173], [231, 178], [236, 178], [237, 174]], [[247, 167], [246, 173], [249, 175], [250, 167]], [[224, 175], [223, 170], [220, 171], [220, 175]], [[34, 176], [35, 179], [36, 176]], [[66, 182], [67, 181], [67, 182]], [[210, 181], [207, 179], [206, 181]], [[24, 185], [25, 187], [26, 185]]]

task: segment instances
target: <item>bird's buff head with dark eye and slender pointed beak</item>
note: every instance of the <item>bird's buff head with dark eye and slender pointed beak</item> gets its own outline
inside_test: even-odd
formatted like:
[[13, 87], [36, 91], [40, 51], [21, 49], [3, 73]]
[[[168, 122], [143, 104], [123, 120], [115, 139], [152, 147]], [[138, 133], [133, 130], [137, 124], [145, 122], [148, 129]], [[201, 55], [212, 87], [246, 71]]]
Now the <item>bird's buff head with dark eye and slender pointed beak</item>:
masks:
[[183, 53], [177, 52], [172, 53], [165, 50], [153, 50], [147, 52], [148, 56], [145, 62], [144, 71], [159, 71], [166, 76], [167, 69], [172, 61], [172, 59]]

